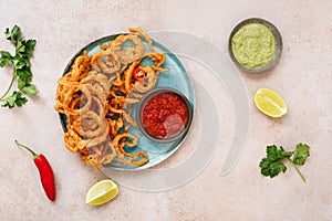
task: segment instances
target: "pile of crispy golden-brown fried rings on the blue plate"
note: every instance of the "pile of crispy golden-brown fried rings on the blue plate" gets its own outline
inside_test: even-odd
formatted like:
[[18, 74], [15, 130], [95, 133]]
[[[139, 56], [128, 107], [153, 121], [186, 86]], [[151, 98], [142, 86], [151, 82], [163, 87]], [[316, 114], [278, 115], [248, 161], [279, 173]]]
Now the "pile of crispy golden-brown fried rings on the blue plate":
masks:
[[[101, 51], [93, 55], [84, 52], [77, 56], [71, 71], [58, 81], [55, 109], [68, 119], [65, 147], [97, 169], [115, 158], [133, 166], [148, 161], [145, 151], [135, 150], [138, 138], [128, 133], [131, 126], [137, 127], [133, 105], [168, 69], [163, 67], [165, 53], [154, 52], [153, 41], [144, 31], [129, 31], [133, 33], [100, 45]], [[149, 65], [142, 64], [145, 59]], [[134, 77], [136, 69], [145, 73], [143, 80]]]

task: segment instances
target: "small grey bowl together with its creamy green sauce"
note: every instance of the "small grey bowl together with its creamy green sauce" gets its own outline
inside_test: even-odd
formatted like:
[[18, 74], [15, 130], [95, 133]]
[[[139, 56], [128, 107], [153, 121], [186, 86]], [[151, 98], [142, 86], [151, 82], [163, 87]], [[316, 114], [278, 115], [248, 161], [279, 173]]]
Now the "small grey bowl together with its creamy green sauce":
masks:
[[238, 23], [228, 39], [230, 59], [242, 71], [262, 73], [280, 60], [282, 39], [271, 22], [251, 18]]

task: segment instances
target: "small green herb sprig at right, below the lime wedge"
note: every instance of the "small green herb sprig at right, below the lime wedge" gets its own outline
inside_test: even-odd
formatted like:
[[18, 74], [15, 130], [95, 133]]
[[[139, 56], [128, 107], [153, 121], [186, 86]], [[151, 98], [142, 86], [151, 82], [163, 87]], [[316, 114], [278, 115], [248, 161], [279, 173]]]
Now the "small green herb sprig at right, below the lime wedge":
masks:
[[278, 149], [276, 145], [267, 146], [267, 157], [262, 158], [259, 164], [260, 172], [270, 178], [278, 176], [280, 172], [286, 172], [287, 167], [283, 161], [287, 160], [305, 182], [305, 178], [300, 172], [298, 166], [304, 165], [307, 158], [310, 156], [309, 149], [308, 145], [301, 143], [297, 145], [294, 151], [286, 151], [282, 147]]

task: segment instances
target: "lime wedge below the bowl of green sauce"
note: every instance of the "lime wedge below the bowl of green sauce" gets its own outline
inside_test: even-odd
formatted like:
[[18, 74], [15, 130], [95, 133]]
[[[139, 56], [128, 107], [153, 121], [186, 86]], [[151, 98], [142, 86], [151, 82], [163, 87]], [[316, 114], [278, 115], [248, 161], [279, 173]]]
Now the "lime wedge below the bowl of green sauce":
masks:
[[269, 88], [259, 88], [255, 94], [255, 104], [259, 110], [270, 117], [281, 117], [287, 114], [284, 101]]

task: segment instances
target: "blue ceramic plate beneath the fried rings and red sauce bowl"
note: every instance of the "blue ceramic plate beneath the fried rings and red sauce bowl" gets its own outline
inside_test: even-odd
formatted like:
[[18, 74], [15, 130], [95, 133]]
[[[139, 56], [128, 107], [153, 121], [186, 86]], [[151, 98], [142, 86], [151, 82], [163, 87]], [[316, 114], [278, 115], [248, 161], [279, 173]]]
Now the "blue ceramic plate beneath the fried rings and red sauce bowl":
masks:
[[[66, 65], [63, 74], [66, 74], [70, 72], [72, 64], [74, 63], [76, 56], [82, 55], [84, 51], [87, 51], [90, 55], [101, 51], [100, 44], [105, 44], [108, 41], [114, 40], [118, 34], [104, 36], [102, 39], [98, 39], [96, 41], [91, 42], [83, 49], [81, 49], [75, 56]], [[144, 45], [147, 50], [147, 43], [145, 40], [143, 40]], [[154, 41], [154, 50], [163, 51], [166, 54], [166, 61], [163, 65], [163, 67], [168, 67], [168, 72], [163, 72], [159, 74], [158, 82], [156, 84], [156, 87], [172, 87], [179, 92], [181, 92], [190, 102], [190, 105], [194, 108], [194, 90], [190, 82], [190, 78], [188, 76], [188, 73], [180, 62], [180, 60], [172, 53], [166, 46], [164, 46], [162, 43]], [[134, 110], [132, 114], [132, 117], [136, 117], [136, 108], [134, 106]], [[60, 114], [60, 119], [62, 127], [64, 131], [66, 131], [66, 116], [63, 114]], [[191, 120], [191, 119], [190, 119]], [[129, 133], [134, 134], [138, 137], [138, 144], [137, 146], [133, 147], [132, 149], [128, 149], [127, 151], [139, 151], [145, 150], [148, 155], [149, 161], [143, 166], [134, 167], [131, 165], [123, 164], [120, 158], [115, 158], [110, 165], [104, 166], [103, 169], [116, 169], [116, 170], [128, 170], [128, 171], [135, 171], [135, 170], [142, 170], [149, 167], [153, 167], [155, 165], [158, 165], [159, 162], [164, 161], [166, 158], [168, 158], [170, 155], [173, 155], [181, 145], [184, 139], [186, 138], [185, 134], [180, 139], [173, 141], [173, 143], [156, 143], [151, 140], [149, 138], [145, 137], [142, 131], [139, 131], [138, 128], [131, 127], [128, 130]]]

